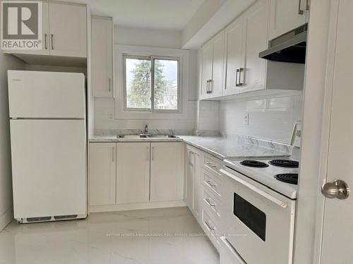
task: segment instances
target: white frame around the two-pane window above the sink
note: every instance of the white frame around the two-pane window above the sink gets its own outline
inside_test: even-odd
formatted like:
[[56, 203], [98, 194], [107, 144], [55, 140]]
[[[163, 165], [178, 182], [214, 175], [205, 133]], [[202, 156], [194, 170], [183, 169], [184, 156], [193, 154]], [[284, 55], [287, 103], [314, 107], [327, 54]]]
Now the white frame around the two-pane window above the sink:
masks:
[[[151, 62], [151, 108], [128, 108], [126, 90], [126, 58], [149, 60]], [[177, 61], [177, 109], [155, 109], [155, 60]], [[123, 96], [124, 111], [145, 112], [145, 113], [180, 113], [181, 111], [181, 77], [180, 77], [180, 58], [172, 56], [143, 56], [136, 54], [123, 54]]]

